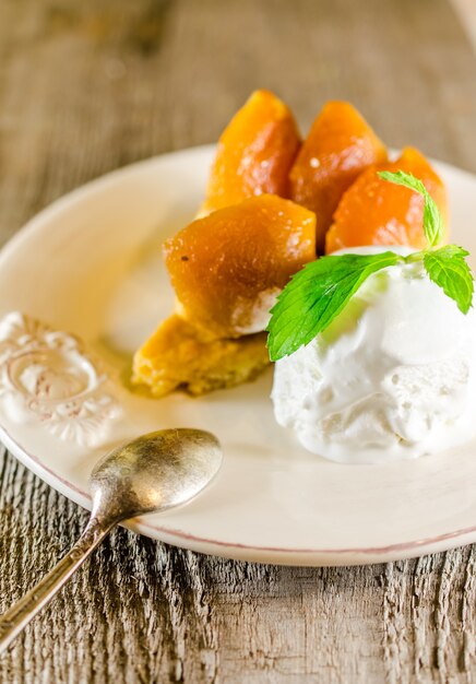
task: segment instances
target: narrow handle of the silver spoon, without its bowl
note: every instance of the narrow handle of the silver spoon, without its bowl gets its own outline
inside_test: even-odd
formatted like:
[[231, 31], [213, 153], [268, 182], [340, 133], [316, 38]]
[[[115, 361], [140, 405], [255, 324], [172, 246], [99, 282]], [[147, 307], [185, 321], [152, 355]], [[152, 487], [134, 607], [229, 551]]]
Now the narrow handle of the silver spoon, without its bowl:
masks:
[[112, 524], [91, 518], [71, 551], [33, 589], [0, 616], [0, 653], [53, 598], [91, 552], [103, 541]]

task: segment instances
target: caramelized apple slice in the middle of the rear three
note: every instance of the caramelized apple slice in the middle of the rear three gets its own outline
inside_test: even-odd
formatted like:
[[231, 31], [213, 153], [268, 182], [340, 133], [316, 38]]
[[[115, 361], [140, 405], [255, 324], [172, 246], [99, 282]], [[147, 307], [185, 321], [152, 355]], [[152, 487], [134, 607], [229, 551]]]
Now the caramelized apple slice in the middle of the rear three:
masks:
[[290, 170], [290, 198], [317, 214], [317, 245], [324, 237], [343, 192], [386, 150], [347, 102], [328, 102], [312, 123]]

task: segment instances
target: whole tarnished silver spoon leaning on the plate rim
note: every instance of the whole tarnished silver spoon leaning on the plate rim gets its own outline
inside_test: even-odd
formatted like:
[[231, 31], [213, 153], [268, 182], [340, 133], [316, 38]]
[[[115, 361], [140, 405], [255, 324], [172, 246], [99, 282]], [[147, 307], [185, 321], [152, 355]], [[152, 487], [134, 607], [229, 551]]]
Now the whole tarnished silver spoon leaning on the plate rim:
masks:
[[201, 429], [163, 429], [108, 453], [90, 479], [93, 509], [71, 551], [0, 617], [0, 653], [52, 599], [121, 520], [185, 504], [205, 487], [222, 463], [222, 448]]

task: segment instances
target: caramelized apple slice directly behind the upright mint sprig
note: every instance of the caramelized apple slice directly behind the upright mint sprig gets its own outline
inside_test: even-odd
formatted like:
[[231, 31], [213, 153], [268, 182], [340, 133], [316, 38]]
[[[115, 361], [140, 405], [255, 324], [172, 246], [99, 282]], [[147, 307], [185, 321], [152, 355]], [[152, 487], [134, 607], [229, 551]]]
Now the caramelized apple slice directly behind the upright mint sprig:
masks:
[[427, 246], [423, 229], [424, 199], [377, 175], [378, 170], [398, 169], [423, 180], [443, 219], [447, 217], [442, 180], [420, 152], [405, 148], [396, 162], [365, 170], [345, 192], [326, 236], [326, 253], [359, 245], [410, 245], [415, 249]]

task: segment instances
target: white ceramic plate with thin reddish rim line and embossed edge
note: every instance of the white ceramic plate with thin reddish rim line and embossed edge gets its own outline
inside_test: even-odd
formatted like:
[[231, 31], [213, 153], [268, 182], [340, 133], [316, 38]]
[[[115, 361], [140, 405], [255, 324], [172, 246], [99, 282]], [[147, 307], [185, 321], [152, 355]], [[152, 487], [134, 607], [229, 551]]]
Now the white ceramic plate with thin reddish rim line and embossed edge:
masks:
[[[112, 446], [160, 427], [212, 431], [225, 453], [212, 485], [188, 506], [131, 526], [204, 553], [346, 565], [476, 541], [476, 444], [388, 465], [325, 461], [274, 422], [271, 369], [201, 399], [129, 391], [133, 350], [171, 307], [159, 246], [193, 216], [212, 153], [188, 150], [110, 174], [52, 204], [3, 249], [5, 445], [88, 507], [88, 473]], [[476, 253], [476, 177], [438, 167], [450, 190], [453, 238]]]

